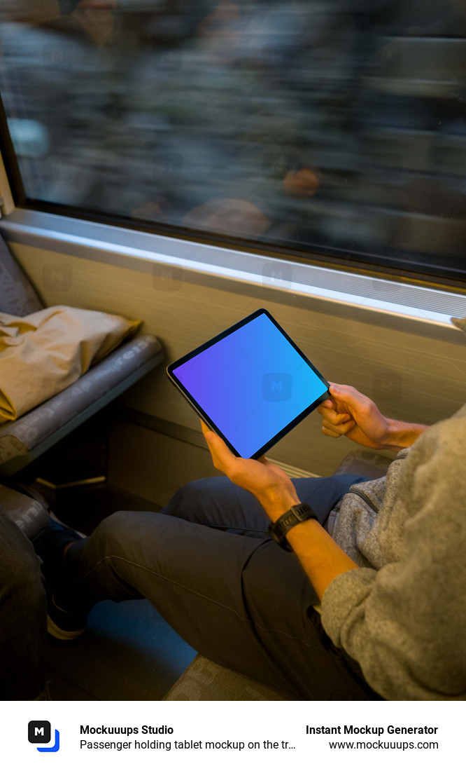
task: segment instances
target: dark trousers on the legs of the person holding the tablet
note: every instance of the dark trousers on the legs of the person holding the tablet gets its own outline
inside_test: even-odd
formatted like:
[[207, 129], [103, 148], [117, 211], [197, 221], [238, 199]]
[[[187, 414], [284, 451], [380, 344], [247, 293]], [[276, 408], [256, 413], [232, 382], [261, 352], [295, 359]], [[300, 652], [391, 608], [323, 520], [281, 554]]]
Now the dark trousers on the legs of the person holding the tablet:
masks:
[[[321, 522], [351, 484], [293, 480]], [[189, 645], [300, 699], [377, 699], [331, 644], [295, 554], [226, 478], [189, 483], [161, 512], [117, 512], [69, 550], [81, 598], [148, 598]]]

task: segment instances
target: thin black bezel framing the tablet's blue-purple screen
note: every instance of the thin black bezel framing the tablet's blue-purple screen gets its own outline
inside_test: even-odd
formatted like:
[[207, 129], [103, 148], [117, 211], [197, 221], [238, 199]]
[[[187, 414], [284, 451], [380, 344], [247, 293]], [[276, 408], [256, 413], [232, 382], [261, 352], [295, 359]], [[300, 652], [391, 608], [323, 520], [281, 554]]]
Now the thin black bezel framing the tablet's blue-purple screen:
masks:
[[[220, 431], [218, 426], [216, 426], [215, 423], [213, 423], [210, 417], [206, 414], [206, 412], [204, 412], [203, 408], [198, 404], [198, 402], [196, 402], [196, 399], [194, 399], [193, 396], [191, 396], [191, 394], [189, 393], [189, 391], [186, 390], [183, 383], [180, 382], [179, 379], [176, 377], [176, 375], [173, 374], [173, 370], [181, 366], [182, 364], [186, 364], [186, 362], [189, 362], [190, 359], [194, 359], [199, 353], [202, 353], [203, 351], [206, 351], [207, 348], [210, 348], [211, 345], [215, 345], [216, 342], [220, 342], [220, 340], [223, 340], [223, 338], [228, 337], [228, 335], [231, 335], [233, 332], [236, 332], [237, 329], [240, 329], [244, 325], [249, 324], [250, 322], [253, 321], [254, 318], [257, 318], [257, 316], [260, 316], [262, 314], [265, 314], [267, 315], [267, 318], [270, 318], [270, 321], [273, 322], [273, 324], [277, 327], [279, 332], [281, 332], [283, 337], [286, 338], [291, 345], [293, 345], [293, 348], [295, 349], [295, 351], [299, 353], [300, 357], [307, 363], [307, 365], [310, 366], [310, 369], [313, 370], [313, 372], [317, 375], [318, 378], [320, 378], [320, 380], [324, 383], [325, 387], [328, 389], [330, 383], [327, 382], [324, 376], [320, 374], [318, 369], [316, 369], [314, 365], [311, 364], [309, 359], [307, 359], [307, 356], [303, 354], [303, 352], [300, 350], [300, 348], [298, 348], [296, 343], [293, 342], [293, 340], [290, 338], [290, 335], [287, 335], [287, 332], [285, 332], [285, 330], [282, 327], [280, 327], [280, 324], [275, 320], [275, 318], [273, 318], [273, 315], [271, 315], [271, 313], [267, 311], [266, 308], [259, 308], [257, 311], [254, 311], [249, 316], [246, 316], [246, 318], [243, 318], [240, 322], [237, 322], [236, 324], [233, 324], [233, 326], [229, 327], [228, 329], [225, 329], [224, 332], [220, 332], [220, 335], [216, 335], [215, 337], [211, 338], [207, 342], [203, 343], [203, 345], [199, 345], [198, 348], [194, 348], [193, 351], [186, 353], [186, 355], [182, 356], [181, 359], [178, 359], [176, 362], [169, 364], [168, 367], [166, 368], [166, 373], [169, 376], [169, 379], [171, 380], [171, 382], [173, 382], [173, 385], [176, 385], [176, 387], [179, 389], [179, 391], [181, 391], [185, 399], [197, 412], [199, 417], [203, 419], [204, 423], [206, 423], [207, 426], [210, 427], [210, 429], [215, 431], [215, 433], [218, 434], [218, 436], [222, 437], [226, 446], [230, 447], [232, 453], [234, 453], [234, 455], [236, 455], [237, 457], [240, 457], [240, 453], [238, 453], [236, 448], [233, 447], [233, 445], [229, 442], [228, 439], [226, 439], [226, 436], [223, 435], [223, 433]], [[291, 421], [291, 423], [288, 423], [284, 429], [282, 429], [279, 433], [273, 436], [272, 439], [270, 439], [267, 442], [267, 444], [264, 444], [263, 447], [260, 447], [260, 449], [258, 449], [256, 453], [254, 453], [251, 456], [251, 459], [256, 460], [257, 458], [260, 458], [260, 456], [263, 456], [265, 453], [267, 453], [267, 450], [269, 450], [270, 447], [273, 447], [273, 445], [277, 444], [277, 442], [280, 441], [280, 439], [283, 439], [283, 436], [286, 436], [287, 433], [291, 431], [291, 429], [297, 426], [298, 423], [300, 423], [301, 420], [303, 420], [303, 418], [309, 415], [310, 412], [313, 411], [313, 409], [316, 409], [316, 407], [319, 406], [321, 402], [324, 402], [325, 399], [328, 399], [329, 396], [330, 395], [327, 390], [327, 392], [324, 392], [324, 394], [322, 394], [322, 396], [316, 399], [315, 402], [310, 404], [309, 407], [304, 409], [303, 412], [300, 412], [300, 415], [294, 418]]]

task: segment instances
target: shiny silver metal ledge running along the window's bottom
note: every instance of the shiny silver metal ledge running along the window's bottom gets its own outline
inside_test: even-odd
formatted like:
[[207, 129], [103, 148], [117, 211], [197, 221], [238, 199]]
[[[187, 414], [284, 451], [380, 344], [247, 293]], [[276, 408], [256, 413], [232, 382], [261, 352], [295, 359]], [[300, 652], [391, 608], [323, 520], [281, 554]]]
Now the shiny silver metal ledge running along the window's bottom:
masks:
[[[6, 241], [131, 268], [160, 278], [249, 295], [258, 301], [462, 342], [451, 316], [466, 316], [464, 293], [324, 268], [59, 214], [16, 208], [0, 221]], [[157, 266], [157, 267], [156, 267]]]

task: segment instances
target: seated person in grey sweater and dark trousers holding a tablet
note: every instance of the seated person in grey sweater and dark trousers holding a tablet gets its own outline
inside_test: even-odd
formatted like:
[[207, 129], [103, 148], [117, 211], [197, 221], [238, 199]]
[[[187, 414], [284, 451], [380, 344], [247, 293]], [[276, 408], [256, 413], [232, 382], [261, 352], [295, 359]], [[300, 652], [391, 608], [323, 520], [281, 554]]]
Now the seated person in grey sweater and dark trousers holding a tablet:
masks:
[[[465, 699], [466, 405], [428, 427], [349, 385], [330, 395], [322, 432], [398, 450], [386, 477], [290, 480], [203, 425], [226, 477], [82, 540], [51, 531], [52, 635], [79, 635], [97, 601], [148, 598], [196, 651], [293, 698]], [[280, 548], [269, 525], [300, 503], [316, 518]]]

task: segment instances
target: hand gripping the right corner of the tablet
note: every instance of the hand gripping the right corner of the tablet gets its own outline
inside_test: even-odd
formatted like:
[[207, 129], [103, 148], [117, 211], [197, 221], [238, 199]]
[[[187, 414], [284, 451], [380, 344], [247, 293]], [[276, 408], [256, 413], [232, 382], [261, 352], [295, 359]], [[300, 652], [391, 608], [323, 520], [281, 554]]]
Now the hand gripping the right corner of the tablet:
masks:
[[352, 385], [330, 383], [331, 399], [317, 407], [322, 416], [322, 433], [347, 436], [357, 444], [372, 449], [390, 449], [391, 421], [385, 418], [368, 396]]

